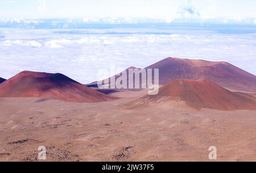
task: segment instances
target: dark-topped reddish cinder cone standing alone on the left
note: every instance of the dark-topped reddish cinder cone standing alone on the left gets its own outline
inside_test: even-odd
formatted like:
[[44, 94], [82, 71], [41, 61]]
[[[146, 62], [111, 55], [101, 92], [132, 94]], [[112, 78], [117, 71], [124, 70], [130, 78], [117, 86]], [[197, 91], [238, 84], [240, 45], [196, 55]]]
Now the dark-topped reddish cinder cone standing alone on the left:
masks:
[[49, 98], [67, 102], [105, 102], [112, 98], [63, 74], [23, 71], [0, 85], [0, 97]]

